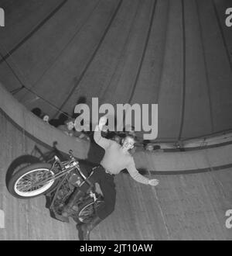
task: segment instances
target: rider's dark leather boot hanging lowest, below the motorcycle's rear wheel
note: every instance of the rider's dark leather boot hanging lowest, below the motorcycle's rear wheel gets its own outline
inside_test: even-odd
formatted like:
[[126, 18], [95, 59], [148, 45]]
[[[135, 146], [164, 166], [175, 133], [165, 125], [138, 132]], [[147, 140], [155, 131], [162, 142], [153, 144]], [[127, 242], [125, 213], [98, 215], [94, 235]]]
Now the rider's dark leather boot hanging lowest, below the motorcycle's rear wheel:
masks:
[[89, 223], [77, 225], [79, 239], [90, 240], [90, 231], [93, 230], [94, 227], [96, 227], [99, 223], [101, 223], [101, 219], [98, 216], [94, 216]]

